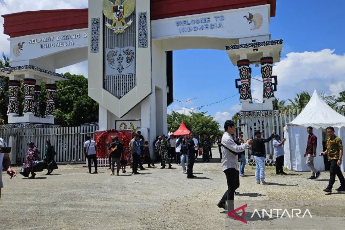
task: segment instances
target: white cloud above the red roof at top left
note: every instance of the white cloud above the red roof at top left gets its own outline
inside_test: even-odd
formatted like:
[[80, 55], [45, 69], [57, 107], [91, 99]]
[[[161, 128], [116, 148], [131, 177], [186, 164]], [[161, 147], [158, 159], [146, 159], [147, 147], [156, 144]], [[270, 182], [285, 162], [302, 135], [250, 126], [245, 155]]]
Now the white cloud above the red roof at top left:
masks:
[[[3, 0], [0, 2], [0, 15], [22, 11], [87, 8], [88, 0]], [[0, 52], [9, 53], [10, 43], [3, 33], [3, 18], [0, 18]], [[25, 19], [23, 19], [25, 21]]]

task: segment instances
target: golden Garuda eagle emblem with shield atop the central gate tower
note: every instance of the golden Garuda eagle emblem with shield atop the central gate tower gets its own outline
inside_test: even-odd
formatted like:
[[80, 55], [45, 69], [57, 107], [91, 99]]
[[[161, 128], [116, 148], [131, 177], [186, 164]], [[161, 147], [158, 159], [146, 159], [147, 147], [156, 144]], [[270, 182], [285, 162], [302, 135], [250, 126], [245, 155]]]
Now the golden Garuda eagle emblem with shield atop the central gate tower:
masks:
[[114, 33], [124, 33], [125, 29], [130, 27], [132, 20], [126, 22], [128, 18], [134, 11], [135, 0], [116, 0], [113, 4], [109, 0], [103, 0], [102, 10], [106, 18], [112, 20], [112, 24], [106, 22], [106, 26], [113, 30]]

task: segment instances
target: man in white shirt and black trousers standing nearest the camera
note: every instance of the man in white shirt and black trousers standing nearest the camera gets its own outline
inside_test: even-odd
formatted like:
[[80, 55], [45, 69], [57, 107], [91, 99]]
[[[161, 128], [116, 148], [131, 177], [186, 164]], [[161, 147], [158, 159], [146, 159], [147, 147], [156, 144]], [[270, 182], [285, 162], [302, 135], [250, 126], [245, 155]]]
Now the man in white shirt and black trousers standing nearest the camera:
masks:
[[[227, 209], [228, 211], [234, 210], [234, 192], [239, 187], [239, 172], [238, 172], [238, 157], [237, 153], [244, 151], [252, 140], [247, 140], [241, 145], [237, 145], [231, 136], [235, 133], [235, 122], [227, 120], [224, 124], [224, 134], [221, 138], [221, 164], [223, 172], [226, 176], [228, 190], [224, 193], [223, 197], [218, 202], [219, 208]], [[228, 205], [226, 206], [226, 201]], [[227, 208], [226, 208], [227, 207]]]

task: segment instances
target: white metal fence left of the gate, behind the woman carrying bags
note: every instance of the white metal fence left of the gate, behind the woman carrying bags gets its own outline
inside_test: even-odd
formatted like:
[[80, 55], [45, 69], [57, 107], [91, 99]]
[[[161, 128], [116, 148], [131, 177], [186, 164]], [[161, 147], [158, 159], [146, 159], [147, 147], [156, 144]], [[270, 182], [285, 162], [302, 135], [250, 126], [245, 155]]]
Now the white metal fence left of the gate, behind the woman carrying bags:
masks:
[[[40, 149], [41, 159], [45, 154], [46, 140], [49, 138], [57, 153], [57, 162], [85, 162], [83, 143], [86, 136], [91, 136], [98, 130], [98, 126], [62, 127], [62, 128], [23, 128], [12, 129], [9, 126], [0, 126], [0, 137], [9, 144], [12, 143], [12, 152], [16, 154], [17, 163], [25, 160], [28, 150], [27, 142], [34, 142]], [[10, 140], [11, 137], [11, 140]]]

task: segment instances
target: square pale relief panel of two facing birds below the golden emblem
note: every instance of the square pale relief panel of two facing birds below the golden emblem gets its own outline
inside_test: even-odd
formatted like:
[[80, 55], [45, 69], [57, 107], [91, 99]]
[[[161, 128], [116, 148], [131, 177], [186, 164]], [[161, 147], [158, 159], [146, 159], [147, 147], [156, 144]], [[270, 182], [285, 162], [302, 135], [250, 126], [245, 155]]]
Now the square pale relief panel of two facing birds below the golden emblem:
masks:
[[135, 74], [135, 47], [106, 49], [106, 75]]

